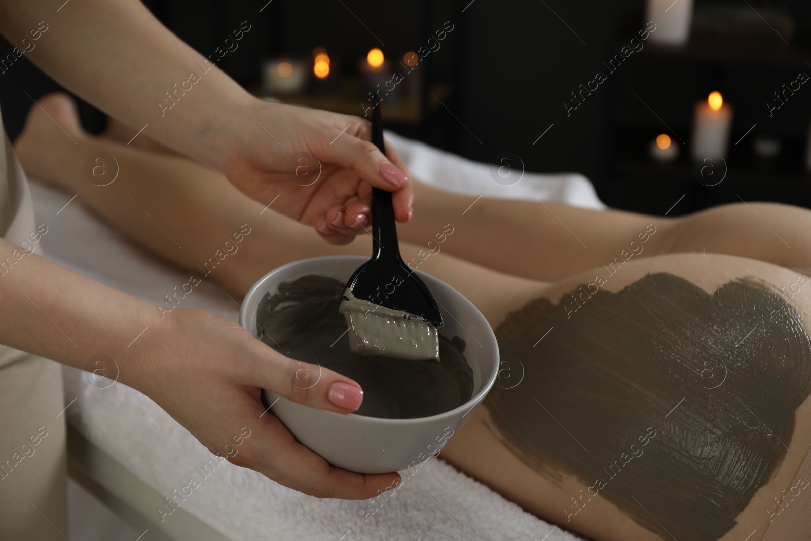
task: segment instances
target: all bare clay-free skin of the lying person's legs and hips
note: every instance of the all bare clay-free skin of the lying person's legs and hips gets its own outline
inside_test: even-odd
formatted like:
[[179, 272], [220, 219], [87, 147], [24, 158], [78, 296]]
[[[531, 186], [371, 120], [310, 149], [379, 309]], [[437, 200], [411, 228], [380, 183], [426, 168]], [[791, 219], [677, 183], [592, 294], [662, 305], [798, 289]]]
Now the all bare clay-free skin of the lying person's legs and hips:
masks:
[[[217, 174], [200, 165], [165, 153], [128, 148], [112, 140], [92, 138], [80, 131], [75, 119], [71, 122], [71, 109], [65, 103], [52, 101], [41, 105], [62, 127], [72, 130], [71, 135], [77, 144], [68, 141], [68, 146], [60, 142], [61, 131], [49, 125], [48, 119], [35, 111], [29, 117], [26, 132], [17, 143], [17, 152], [29, 174], [79, 193], [84, 204], [156, 255], [195, 273], [196, 265], [206, 260], [225, 238], [238, 230], [240, 224], [251, 224], [254, 232], [246, 237], [242, 250], [230, 256], [221, 268], [218, 267], [211, 274], [213, 280], [234, 294], [244, 294], [258, 277], [290, 260], [329, 253], [367, 255], [370, 252], [369, 239], [364, 237], [345, 247], [324, 246], [320, 239], [313, 238], [306, 226], [273, 213], [260, 214], [262, 204], [247, 199]], [[48, 148], [48, 152], [44, 148]], [[84, 177], [84, 161], [93, 152], [109, 152], [118, 160], [120, 175], [113, 184], [97, 187]], [[750, 208], [743, 204], [729, 205], [669, 221], [630, 213], [588, 213], [574, 209], [581, 213], [582, 224], [578, 221], [580, 225], [575, 226], [582, 230], [572, 231], [586, 241], [589, 248], [583, 249], [577, 241], [571, 242], [567, 237], [568, 231], [560, 233], [551, 227], [544, 227], [551, 222], [539, 218], [539, 215], [543, 217], [547, 213], [547, 209], [540, 204], [480, 200], [476, 205], [482, 204], [480, 208], [484, 210], [476, 215], [477, 220], [455, 221], [453, 216], [461, 218], [461, 210], [470, 205], [471, 199], [424, 188], [415, 182], [417, 199], [414, 206], [418, 210], [413, 223], [401, 228], [401, 238], [407, 241], [401, 243], [401, 251], [408, 260], [411, 254], [418, 254], [423, 249], [422, 243], [427, 242], [426, 237], [433, 238], [444, 224], [453, 225], [454, 232], [443, 243], [442, 251], [421, 261], [419, 268], [470, 298], [493, 328], [497, 328], [509, 313], [530, 299], [543, 297], [551, 303], [560, 303], [565, 293], [592, 281], [594, 273], [599, 272], [599, 264], [611, 261], [651, 221], [661, 229], [646, 243], [645, 251], [629, 260], [621, 273], [611, 279], [605, 286], [607, 290], [619, 291], [646, 274], [657, 272], [683, 277], [707, 293], [742, 277], [755, 277], [779, 290], [796, 281], [797, 273], [778, 264], [803, 267], [804, 252], [811, 246], [805, 233], [811, 225], [808, 211], [786, 205], [749, 204]], [[186, 196], [181, 197], [181, 194]], [[425, 216], [433, 219], [426, 218], [423, 223], [423, 212], [420, 210], [423, 208], [422, 196], [425, 197], [426, 207], [433, 205], [436, 210], [425, 212]], [[446, 200], [443, 201], [443, 198]], [[178, 249], [150, 218], [142, 216], [144, 213], [132, 203], [132, 199], [141, 205], [148, 205], [144, 208], [148, 208], [152, 218], [172, 234], [182, 249]], [[462, 203], [466, 205], [456, 214], [454, 205]], [[567, 208], [563, 205], [552, 207], [547, 204], [547, 207], [563, 221], [572, 218], [571, 224], [567, 222], [570, 229], [577, 221], [574, 213], [566, 214]], [[527, 215], [519, 230], [534, 230], [537, 227], [537, 242], [558, 243], [560, 255], [550, 258], [541, 250], [518, 249], [523, 246], [523, 241], [510, 238], [508, 231], [513, 225], [506, 220], [512, 213], [521, 213], [521, 208], [526, 208]], [[530, 210], [534, 210], [534, 213], [530, 213]], [[760, 239], [759, 243], [737, 233], [740, 228], [749, 228], [745, 217], [746, 213], [752, 215], [752, 210], [775, 231], [772, 234], [763, 228], [767, 235], [758, 236], [760, 233], [755, 225], [762, 226], [762, 222], [758, 217], [749, 217], [754, 224], [749, 232]], [[466, 217], [467, 214], [470, 213], [466, 213]], [[783, 219], [784, 215], [788, 217]], [[560, 224], [555, 217], [551, 219]], [[612, 229], [614, 219], [616, 228]], [[536, 223], [539, 220], [540, 223]], [[500, 230], [501, 235], [476, 238], [476, 234], [485, 234], [488, 229], [499, 230], [504, 223], [508, 225]], [[709, 233], [702, 238], [695, 229], [691, 229], [697, 227]], [[599, 233], [590, 233], [594, 229]], [[619, 233], [612, 237], [611, 231]], [[592, 237], [587, 237], [589, 234]], [[570, 253], [581, 250], [585, 253], [592, 247], [602, 247], [595, 236], [598, 234], [604, 236], [605, 243], [611, 249], [605, 249], [597, 260], [582, 257], [578, 260], [576, 253]], [[791, 246], [790, 251], [783, 251], [783, 244], [775, 238], [777, 235]], [[592, 239], [594, 243], [591, 243]], [[701, 253], [702, 244], [707, 247], [706, 255]], [[710, 246], [723, 249], [727, 255], [712, 253]], [[689, 249], [699, 253], [667, 253]], [[541, 253], [532, 253], [538, 251]], [[470, 260], [465, 257], [466, 254], [470, 255]], [[757, 259], [753, 258], [754, 255], [758, 256]], [[550, 263], [550, 259], [556, 262]], [[478, 264], [483, 261], [489, 263], [491, 268]], [[524, 271], [516, 276], [505, 273], [507, 268]], [[591, 268], [594, 270], [589, 271]], [[549, 281], [533, 279], [537, 275], [556, 276], [556, 273], [568, 274]], [[528, 277], [527, 274], [534, 276]], [[792, 298], [792, 306], [804, 320], [807, 333], [811, 322], [811, 293], [807, 288]], [[610, 328], [612, 322], [606, 321], [604, 324]], [[543, 359], [525, 360], [528, 363], [543, 362]], [[786, 442], [790, 450], [783, 462], [770, 481], [757, 491], [749, 505], [736, 517], [736, 526], [719, 539], [746, 539], [750, 534], [749, 539], [762, 539], [769, 520], [763, 509], [770, 506], [774, 496], [791, 486], [811, 444], [811, 398], [806, 398], [795, 411], [795, 419], [792, 440]], [[560, 472], [562, 481], [553, 479], [518, 460], [500, 437], [500, 427], [493, 421], [487, 402], [451, 440], [443, 457], [531, 513], [591, 539], [667, 539], [633, 522], [602, 496], [591, 500], [588, 513], [582, 513], [567, 523], [560, 509], [569, 505], [571, 494], [586, 488], [587, 484], [566, 471]], [[650, 479], [650, 482], [656, 483], [656, 479]]]

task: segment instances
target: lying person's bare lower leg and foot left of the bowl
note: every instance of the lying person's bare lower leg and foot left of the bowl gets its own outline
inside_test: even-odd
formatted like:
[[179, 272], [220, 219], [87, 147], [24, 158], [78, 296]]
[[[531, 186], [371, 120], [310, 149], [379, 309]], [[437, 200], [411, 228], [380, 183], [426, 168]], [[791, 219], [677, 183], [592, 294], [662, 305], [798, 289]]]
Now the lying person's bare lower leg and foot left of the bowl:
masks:
[[[332, 247], [303, 234], [310, 228], [265, 209], [185, 157], [88, 135], [63, 96], [40, 104], [48, 114], [32, 108], [15, 142], [29, 176], [78, 193], [135, 243], [200, 277], [210, 271], [212, 280], [240, 296], [277, 262], [301, 259], [316, 247], [325, 254], [371, 253], [371, 238]], [[241, 243], [234, 243], [234, 234], [244, 236]], [[238, 253], [222, 257], [234, 250]]]

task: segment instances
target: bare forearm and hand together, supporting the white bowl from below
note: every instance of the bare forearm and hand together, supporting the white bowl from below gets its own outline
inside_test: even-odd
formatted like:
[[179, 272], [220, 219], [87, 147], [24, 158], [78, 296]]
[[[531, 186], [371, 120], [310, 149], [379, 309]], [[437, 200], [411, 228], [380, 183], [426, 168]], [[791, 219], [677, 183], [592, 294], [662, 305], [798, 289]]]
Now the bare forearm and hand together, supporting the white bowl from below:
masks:
[[[0, 271], [0, 343], [90, 371], [100, 368], [97, 355], [113, 359], [95, 374], [152, 398], [212, 453], [307, 494], [365, 499], [399, 479], [329, 466], [260, 401], [260, 389], [269, 389], [307, 406], [354, 411], [363, 393], [352, 380], [324, 368], [309, 384], [310, 365], [289, 370], [295, 361], [231, 321], [182, 309], [163, 319], [149, 303], [20, 253], [0, 239], [0, 268], [14, 260]], [[245, 444], [237, 455], [238, 434]]]

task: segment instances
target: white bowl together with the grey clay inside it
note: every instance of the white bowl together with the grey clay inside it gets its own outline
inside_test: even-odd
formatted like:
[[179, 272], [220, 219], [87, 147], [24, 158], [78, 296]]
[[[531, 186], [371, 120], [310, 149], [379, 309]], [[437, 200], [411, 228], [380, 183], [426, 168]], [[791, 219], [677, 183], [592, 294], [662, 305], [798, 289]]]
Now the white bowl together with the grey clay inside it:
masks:
[[[405, 470], [439, 453], [491, 389], [499, 357], [481, 312], [457, 290], [420, 271], [445, 322], [440, 365], [350, 354], [346, 337], [341, 341], [345, 320], [337, 314], [336, 295], [366, 260], [324, 255], [274, 269], [242, 301], [240, 324], [282, 354], [361, 384], [364, 399], [356, 414], [303, 406], [268, 391], [263, 400], [297, 440], [327, 462], [371, 474]], [[260, 305], [264, 311], [257, 313]], [[295, 366], [291, 361], [291, 373]], [[315, 385], [318, 374], [312, 376]]]

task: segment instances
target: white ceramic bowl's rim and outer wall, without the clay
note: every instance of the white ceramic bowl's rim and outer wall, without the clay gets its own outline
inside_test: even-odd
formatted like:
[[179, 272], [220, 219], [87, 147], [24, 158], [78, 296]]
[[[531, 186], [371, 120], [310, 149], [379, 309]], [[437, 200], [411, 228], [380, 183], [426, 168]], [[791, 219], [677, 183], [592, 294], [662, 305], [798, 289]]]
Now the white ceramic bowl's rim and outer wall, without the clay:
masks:
[[[258, 336], [256, 307], [264, 295], [276, 293], [281, 282], [306, 274], [333, 277], [345, 282], [367, 260], [360, 255], [322, 255], [282, 265], [265, 274], [248, 291], [242, 301], [239, 323]], [[377, 474], [405, 470], [425, 462], [428, 456], [439, 453], [449, 437], [470, 419], [496, 381], [499, 349], [496, 335], [482, 313], [451, 286], [421, 271], [416, 273], [440, 305], [444, 336], [457, 335], [466, 341], [464, 354], [473, 370], [473, 396], [461, 406], [431, 417], [379, 419], [319, 410], [264, 391], [263, 400], [266, 405], [273, 404], [273, 414], [298, 441], [333, 466]]]

